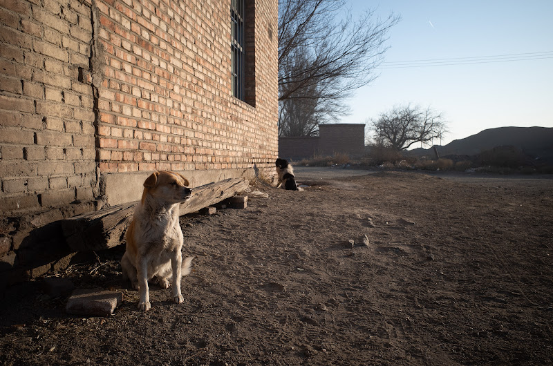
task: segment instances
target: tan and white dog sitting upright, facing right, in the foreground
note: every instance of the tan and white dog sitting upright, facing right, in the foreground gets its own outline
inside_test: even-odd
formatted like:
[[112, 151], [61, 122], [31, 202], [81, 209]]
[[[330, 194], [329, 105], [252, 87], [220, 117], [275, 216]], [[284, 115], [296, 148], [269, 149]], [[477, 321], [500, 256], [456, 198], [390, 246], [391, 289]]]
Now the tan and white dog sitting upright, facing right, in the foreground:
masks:
[[178, 222], [179, 203], [191, 197], [188, 180], [169, 171], [156, 171], [144, 182], [142, 200], [126, 231], [126, 251], [121, 259], [123, 280], [130, 280], [140, 291], [138, 309], [149, 310], [148, 280], [156, 278], [160, 287], [169, 288], [172, 276], [173, 300], [184, 301], [180, 279], [190, 273], [194, 257], [182, 260], [184, 238]]

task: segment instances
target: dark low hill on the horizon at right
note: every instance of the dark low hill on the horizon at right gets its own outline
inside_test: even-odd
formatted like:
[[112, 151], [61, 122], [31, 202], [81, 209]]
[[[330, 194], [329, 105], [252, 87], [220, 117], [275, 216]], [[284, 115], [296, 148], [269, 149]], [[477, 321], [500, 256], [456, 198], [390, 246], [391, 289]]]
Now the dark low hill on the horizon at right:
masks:
[[[440, 156], [478, 155], [498, 146], [514, 146], [532, 157], [553, 162], [553, 128], [499, 127], [484, 130], [476, 135], [456, 139], [445, 146], [436, 146]], [[409, 155], [434, 155], [431, 148], [415, 148]]]

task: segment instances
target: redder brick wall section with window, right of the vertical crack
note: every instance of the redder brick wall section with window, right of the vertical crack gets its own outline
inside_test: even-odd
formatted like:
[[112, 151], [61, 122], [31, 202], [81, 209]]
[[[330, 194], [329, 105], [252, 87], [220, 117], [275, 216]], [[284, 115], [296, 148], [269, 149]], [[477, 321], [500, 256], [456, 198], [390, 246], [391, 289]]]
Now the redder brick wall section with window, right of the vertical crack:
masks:
[[[254, 59], [261, 71], [255, 95], [263, 102], [253, 108], [234, 99], [229, 1], [99, 4], [96, 57], [106, 63], [93, 82], [100, 171], [247, 168], [274, 155], [276, 55]], [[268, 38], [274, 5], [255, 7], [255, 41], [272, 44], [268, 49], [277, 41]]]

